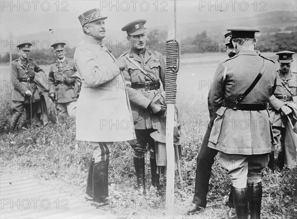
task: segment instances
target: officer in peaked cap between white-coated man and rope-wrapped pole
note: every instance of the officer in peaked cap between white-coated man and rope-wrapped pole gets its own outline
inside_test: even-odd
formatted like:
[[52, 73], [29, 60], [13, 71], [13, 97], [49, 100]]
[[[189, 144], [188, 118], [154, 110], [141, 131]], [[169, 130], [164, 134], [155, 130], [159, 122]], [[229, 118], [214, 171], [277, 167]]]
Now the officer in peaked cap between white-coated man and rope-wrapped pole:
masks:
[[157, 130], [157, 115], [164, 113], [160, 104], [152, 101], [156, 95], [164, 92], [165, 61], [161, 53], [146, 47], [146, 20], [136, 20], [125, 25], [130, 50], [119, 58], [124, 65], [124, 77], [128, 86], [136, 140], [129, 141], [134, 149], [134, 166], [138, 191], [146, 194], [145, 154], [150, 153], [151, 183], [158, 190], [159, 175], [156, 174], [154, 140], [150, 133]]

